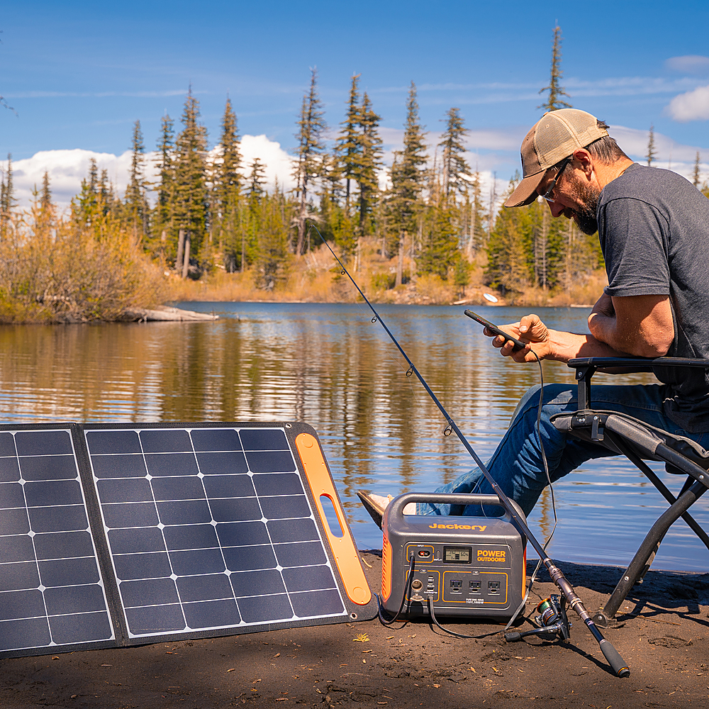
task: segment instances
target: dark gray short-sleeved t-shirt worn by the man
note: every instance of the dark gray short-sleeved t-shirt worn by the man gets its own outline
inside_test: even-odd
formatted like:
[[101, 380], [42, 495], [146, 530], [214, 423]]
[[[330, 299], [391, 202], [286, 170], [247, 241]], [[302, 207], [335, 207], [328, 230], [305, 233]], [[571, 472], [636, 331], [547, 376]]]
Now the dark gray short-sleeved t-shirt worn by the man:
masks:
[[[675, 172], [632, 164], [598, 201], [598, 236], [610, 296], [669, 296], [669, 357], [709, 359], [709, 199]], [[709, 372], [658, 367], [665, 414], [709, 431]]]

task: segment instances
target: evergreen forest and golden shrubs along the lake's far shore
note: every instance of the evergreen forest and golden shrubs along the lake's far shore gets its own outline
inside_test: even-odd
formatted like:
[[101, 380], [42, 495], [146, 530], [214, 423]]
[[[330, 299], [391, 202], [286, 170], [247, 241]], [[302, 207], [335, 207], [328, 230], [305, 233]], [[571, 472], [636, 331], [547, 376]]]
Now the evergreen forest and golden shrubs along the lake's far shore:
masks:
[[[569, 106], [559, 49], [555, 28], [542, 111]], [[593, 302], [602, 286], [597, 235], [551, 218], [541, 199], [498, 209], [519, 176], [503, 194], [494, 187], [483, 194], [481, 174], [466, 160], [462, 112], [445, 112], [440, 141], [430, 146], [413, 82], [403, 145], [384, 167], [381, 117], [359, 80], [350, 78], [342, 120], [328, 126], [312, 70], [288, 191], [267, 187], [258, 158], [243, 160], [229, 99], [210, 147], [191, 88], [179, 121], [163, 116], [150, 156], [135, 122], [123, 196], [92, 160], [69, 213], [57, 213], [48, 174], [21, 211], [9, 160], [0, 190], [0, 320], [116, 319], [131, 306], [197, 297], [189, 290], [194, 281], [238, 281], [242, 290], [224, 296], [238, 299], [258, 292], [278, 298], [294, 278], [306, 285], [325, 279], [325, 291], [305, 297], [345, 298], [340, 269], [319, 256], [320, 235], [380, 301], [475, 302], [486, 289], [508, 303]], [[652, 130], [650, 140], [648, 163]]]

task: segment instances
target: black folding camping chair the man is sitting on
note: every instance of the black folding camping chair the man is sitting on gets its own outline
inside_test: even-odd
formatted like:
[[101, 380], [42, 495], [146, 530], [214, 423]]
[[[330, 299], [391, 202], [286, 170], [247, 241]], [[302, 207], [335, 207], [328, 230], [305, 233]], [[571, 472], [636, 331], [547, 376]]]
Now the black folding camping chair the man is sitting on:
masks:
[[[688, 509], [709, 488], [709, 451], [693, 440], [672, 435], [654, 428], [632, 416], [612, 411], [594, 410], [591, 403], [591, 377], [598, 369], [610, 367], [622, 372], [652, 372], [653, 367], [701, 367], [709, 369], [709, 359], [683, 359], [680, 357], [583, 357], [571, 359], [569, 367], [576, 369], [579, 382], [578, 411], [560, 413], [552, 418], [557, 430], [584, 441], [592, 441], [608, 450], [625, 455], [654, 484], [669, 502], [669, 508], [660, 515], [635, 552], [618, 585], [610, 594], [605, 606], [593, 615], [593, 622], [608, 627], [615, 613], [634, 584], [641, 583], [652, 564], [660, 542], [669, 527], [680, 517], [709, 549], [709, 536], [688, 513]], [[644, 462], [662, 461], [669, 473], [686, 475], [687, 479], [675, 497]]]

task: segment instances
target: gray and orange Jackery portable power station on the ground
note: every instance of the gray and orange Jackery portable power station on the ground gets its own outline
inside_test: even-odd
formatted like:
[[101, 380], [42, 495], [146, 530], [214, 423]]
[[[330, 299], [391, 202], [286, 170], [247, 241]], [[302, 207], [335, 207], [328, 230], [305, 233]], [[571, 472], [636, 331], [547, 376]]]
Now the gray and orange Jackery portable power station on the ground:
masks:
[[384, 608], [396, 613], [405, 598], [402, 615], [426, 615], [430, 598], [435, 615], [510, 618], [524, 598], [527, 561], [527, 539], [510, 514], [404, 515], [411, 502], [501, 506], [496, 495], [408, 493], [394, 498], [381, 524]]

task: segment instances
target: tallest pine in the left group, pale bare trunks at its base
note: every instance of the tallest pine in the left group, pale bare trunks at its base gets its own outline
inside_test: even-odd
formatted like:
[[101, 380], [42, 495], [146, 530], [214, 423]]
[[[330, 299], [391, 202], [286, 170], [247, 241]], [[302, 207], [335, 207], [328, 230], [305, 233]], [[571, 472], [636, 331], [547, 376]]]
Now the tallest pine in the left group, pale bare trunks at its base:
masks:
[[[175, 221], [179, 228], [175, 267], [186, 277], [191, 257], [199, 255], [207, 228], [206, 150], [207, 136], [198, 122], [199, 101], [189, 87], [182, 112], [182, 131], [175, 143]], [[181, 249], [182, 262], [180, 262]]]

